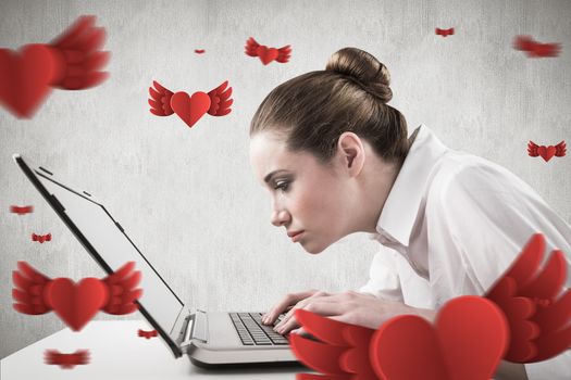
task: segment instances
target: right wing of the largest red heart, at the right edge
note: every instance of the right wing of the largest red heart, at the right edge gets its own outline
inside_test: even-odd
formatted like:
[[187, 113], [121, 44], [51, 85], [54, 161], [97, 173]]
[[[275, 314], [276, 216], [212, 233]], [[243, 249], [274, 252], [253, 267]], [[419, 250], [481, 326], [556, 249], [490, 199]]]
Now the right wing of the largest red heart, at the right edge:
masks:
[[509, 321], [509, 362], [546, 360], [571, 347], [571, 290], [563, 291], [566, 257], [555, 250], [542, 265], [544, 251], [545, 237], [535, 233], [486, 293]]

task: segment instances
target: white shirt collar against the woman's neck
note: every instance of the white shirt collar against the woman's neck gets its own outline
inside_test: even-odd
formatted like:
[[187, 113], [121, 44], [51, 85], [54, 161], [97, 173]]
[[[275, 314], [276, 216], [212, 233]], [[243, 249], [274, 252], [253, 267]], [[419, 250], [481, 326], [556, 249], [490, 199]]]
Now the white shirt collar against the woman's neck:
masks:
[[448, 150], [425, 125], [421, 124], [414, 132], [417, 130], [376, 223], [376, 231], [381, 236], [388, 236], [406, 246], [409, 245], [429, 176]]

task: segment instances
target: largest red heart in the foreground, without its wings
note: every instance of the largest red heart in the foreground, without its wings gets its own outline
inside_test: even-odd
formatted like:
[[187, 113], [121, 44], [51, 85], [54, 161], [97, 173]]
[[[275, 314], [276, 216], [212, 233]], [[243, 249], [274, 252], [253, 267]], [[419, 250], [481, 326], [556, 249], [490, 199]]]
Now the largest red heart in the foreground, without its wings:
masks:
[[443, 306], [435, 327], [412, 315], [388, 320], [374, 333], [370, 356], [381, 379], [482, 380], [494, 376], [508, 341], [498, 306], [466, 295]]

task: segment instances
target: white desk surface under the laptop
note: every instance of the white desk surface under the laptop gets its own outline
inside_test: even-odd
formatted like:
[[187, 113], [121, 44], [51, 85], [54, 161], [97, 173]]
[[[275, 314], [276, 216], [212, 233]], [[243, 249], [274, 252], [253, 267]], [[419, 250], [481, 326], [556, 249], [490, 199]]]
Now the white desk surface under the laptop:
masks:
[[[144, 320], [95, 320], [82, 331], [65, 328], [3, 358], [0, 379], [280, 379], [293, 380], [298, 368], [206, 370], [194, 366], [187, 356], [175, 359], [160, 337], [145, 339], [138, 329], [151, 330]], [[90, 362], [62, 369], [44, 362], [46, 350], [73, 353], [87, 349]]]

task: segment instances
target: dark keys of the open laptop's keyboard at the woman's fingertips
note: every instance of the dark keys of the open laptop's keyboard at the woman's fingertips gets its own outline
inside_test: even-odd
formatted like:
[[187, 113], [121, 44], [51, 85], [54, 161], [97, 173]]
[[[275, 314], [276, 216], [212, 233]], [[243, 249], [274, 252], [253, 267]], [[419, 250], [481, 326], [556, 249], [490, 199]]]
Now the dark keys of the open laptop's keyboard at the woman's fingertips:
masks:
[[[275, 332], [273, 326], [262, 324], [262, 313], [229, 313], [244, 345], [287, 345], [287, 339]], [[284, 314], [277, 321], [282, 320]]]

